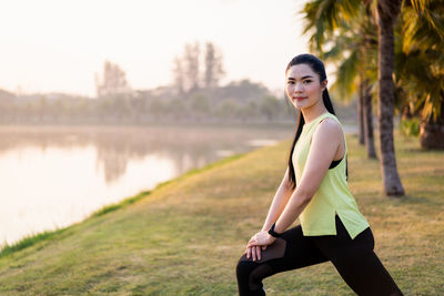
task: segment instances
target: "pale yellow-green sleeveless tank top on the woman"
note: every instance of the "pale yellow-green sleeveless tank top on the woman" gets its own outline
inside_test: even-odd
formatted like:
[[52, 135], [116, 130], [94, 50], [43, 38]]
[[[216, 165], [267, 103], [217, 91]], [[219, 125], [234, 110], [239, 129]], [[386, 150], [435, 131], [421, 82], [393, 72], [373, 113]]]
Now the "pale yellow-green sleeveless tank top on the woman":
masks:
[[[325, 118], [331, 118], [341, 124], [337, 118], [329, 112], [309, 124], [305, 123], [292, 155], [296, 182], [302, 178], [312, 135]], [[336, 213], [352, 238], [369, 227], [369, 222], [357, 210], [356, 201], [349, 190], [345, 176], [346, 153], [345, 142], [344, 157], [339, 165], [329, 169], [313, 198], [299, 217], [305, 236], [336, 235], [334, 218]]]

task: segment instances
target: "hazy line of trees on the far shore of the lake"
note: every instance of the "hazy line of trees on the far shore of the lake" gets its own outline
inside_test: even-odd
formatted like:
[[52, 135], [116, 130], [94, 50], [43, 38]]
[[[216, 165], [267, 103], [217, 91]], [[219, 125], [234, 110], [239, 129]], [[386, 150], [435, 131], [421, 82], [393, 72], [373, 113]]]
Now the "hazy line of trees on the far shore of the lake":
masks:
[[249, 80], [220, 85], [222, 52], [212, 42], [186, 43], [174, 59], [172, 84], [133, 90], [125, 71], [105, 61], [94, 73], [97, 98], [16, 95], [0, 90], [3, 124], [158, 124], [185, 122], [292, 122], [292, 109]]

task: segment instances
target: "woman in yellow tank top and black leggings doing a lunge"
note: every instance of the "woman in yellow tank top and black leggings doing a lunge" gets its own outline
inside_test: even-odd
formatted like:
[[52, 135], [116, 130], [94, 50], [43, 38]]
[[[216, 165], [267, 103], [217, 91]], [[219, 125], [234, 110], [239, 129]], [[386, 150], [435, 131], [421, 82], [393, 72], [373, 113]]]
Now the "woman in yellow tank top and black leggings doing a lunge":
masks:
[[[331, 261], [357, 295], [403, 295], [373, 252], [373, 234], [346, 183], [346, 142], [312, 54], [286, 68], [285, 91], [300, 110], [289, 167], [262, 229], [236, 267], [240, 295], [265, 295], [262, 279]], [[285, 231], [295, 220], [301, 225]]]

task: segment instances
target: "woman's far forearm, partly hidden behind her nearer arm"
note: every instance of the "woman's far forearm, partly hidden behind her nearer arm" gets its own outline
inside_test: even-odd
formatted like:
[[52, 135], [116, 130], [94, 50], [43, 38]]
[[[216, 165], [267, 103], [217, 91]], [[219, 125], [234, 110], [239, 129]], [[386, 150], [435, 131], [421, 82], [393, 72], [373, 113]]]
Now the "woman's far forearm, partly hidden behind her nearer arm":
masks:
[[285, 205], [289, 203], [293, 192], [294, 190], [292, 188], [289, 180], [289, 167], [286, 167], [281, 185], [279, 185], [276, 194], [273, 197], [273, 202], [270, 206], [264, 225], [262, 226], [262, 231], [270, 229], [271, 225], [276, 222], [279, 216], [282, 214], [282, 211], [284, 211]]

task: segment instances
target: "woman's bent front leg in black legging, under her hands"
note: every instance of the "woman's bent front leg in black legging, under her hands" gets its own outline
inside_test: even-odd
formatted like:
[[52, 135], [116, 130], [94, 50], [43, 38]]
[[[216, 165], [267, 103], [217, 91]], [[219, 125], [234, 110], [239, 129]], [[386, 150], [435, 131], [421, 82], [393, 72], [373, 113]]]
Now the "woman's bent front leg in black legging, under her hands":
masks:
[[282, 234], [266, 251], [261, 253], [261, 261], [246, 259], [245, 254], [236, 266], [238, 288], [241, 296], [265, 295], [262, 279], [282, 273], [319, 263], [327, 258], [311, 239], [303, 236], [301, 226]]

